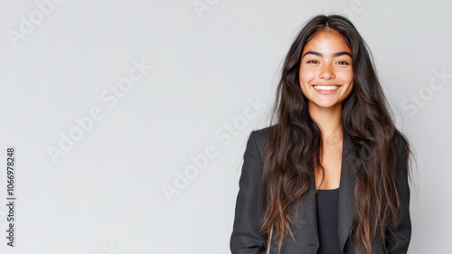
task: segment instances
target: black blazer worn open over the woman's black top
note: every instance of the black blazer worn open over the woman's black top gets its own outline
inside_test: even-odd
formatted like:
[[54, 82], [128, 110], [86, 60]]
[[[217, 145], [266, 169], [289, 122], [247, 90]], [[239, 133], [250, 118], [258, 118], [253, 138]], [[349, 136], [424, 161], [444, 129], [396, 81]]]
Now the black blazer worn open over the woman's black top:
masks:
[[[232, 254], [267, 253], [267, 239], [259, 233], [260, 220], [263, 218], [261, 196], [261, 176], [263, 160], [266, 156], [265, 145], [269, 127], [253, 130], [247, 142], [240, 175], [240, 191], [237, 195], [235, 218], [231, 233]], [[353, 204], [353, 173], [358, 158], [354, 156], [351, 137], [344, 132], [342, 170], [338, 201], [338, 237], [339, 247], [344, 254], [356, 253], [353, 241], [348, 238], [354, 217]], [[406, 147], [400, 140], [400, 155], [398, 165], [398, 192], [401, 209], [398, 214], [397, 231], [395, 235], [387, 235], [386, 241], [374, 244], [374, 254], [407, 253], [411, 238], [410, 221], [410, 187], [405, 164]], [[282, 244], [281, 254], [315, 254], [319, 248], [317, 230], [315, 180], [311, 175], [311, 187], [306, 196], [297, 202], [298, 220], [293, 229], [297, 243], [288, 236]], [[294, 210], [292, 210], [294, 211]], [[269, 253], [278, 253], [278, 239], [272, 234]]]

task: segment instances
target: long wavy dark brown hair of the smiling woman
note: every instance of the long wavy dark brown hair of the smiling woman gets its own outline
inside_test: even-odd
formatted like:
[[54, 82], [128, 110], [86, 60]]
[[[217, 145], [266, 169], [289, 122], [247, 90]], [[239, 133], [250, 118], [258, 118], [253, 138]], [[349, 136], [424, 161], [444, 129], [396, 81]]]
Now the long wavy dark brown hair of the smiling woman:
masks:
[[356, 247], [370, 253], [373, 240], [384, 239], [385, 231], [395, 225], [400, 209], [396, 189], [400, 139], [407, 148], [407, 167], [411, 151], [408, 139], [391, 119], [391, 107], [381, 89], [366, 42], [341, 15], [311, 18], [287, 52], [271, 110], [272, 126], [268, 129], [268, 156], [262, 175], [264, 218], [261, 231], [268, 236], [269, 243], [273, 229], [273, 234], [279, 237], [279, 249], [288, 234], [294, 238], [291, 228], [294, 218], [289, 208], [309, 190], [314, 165], [320, 165], [321, 172], [325, 173], [319, 159], [323, 147], [320, 128], [309, 115], [298, 71], [306, 42], [317, 32], [328, 29], [342, 34], [353, 55], [353, 90], [343, 101], [341, 121], [364, 163], [356, 165], [356, 212], [350, 235]]

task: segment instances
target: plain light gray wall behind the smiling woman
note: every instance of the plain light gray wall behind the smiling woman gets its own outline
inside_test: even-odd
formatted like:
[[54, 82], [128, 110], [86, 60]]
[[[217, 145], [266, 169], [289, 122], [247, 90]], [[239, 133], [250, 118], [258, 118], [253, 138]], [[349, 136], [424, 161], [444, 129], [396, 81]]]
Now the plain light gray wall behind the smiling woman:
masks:
[[[450, 252], [450, 2], [38, 0], [0, 13], [1, 253], [230, 253], [246, 140], [268, 126], [278, 68], [315, 14], [353, 19], [414, 147], [410, 253]], [[134, 61], [152, 69], [113, 105]], [[53, 163], [49, 147], [71, 131], [79, 140]]]

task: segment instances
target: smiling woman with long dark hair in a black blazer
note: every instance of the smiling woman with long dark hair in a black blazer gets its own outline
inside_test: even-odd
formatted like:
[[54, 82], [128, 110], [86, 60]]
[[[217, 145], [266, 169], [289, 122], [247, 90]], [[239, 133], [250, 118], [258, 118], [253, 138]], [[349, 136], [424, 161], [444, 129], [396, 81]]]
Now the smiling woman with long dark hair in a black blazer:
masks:
[[247, 143], [232, 254], [407, 252], [410, 144], [349, 20], [297, 34], [271, 123]]

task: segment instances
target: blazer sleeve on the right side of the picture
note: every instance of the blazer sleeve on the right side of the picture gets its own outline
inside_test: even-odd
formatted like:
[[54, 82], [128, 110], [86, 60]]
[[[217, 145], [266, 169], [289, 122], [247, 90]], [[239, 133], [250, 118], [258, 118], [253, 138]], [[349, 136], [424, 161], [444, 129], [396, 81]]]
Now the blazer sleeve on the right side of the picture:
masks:
[[397, 192], [400, 198], [400, 210], [397, 215], [397, 228], [394, 233], [388, 233], [386, 237], [386, 248], [390, 254], [406, 254], [411, 239], [410, 220], [410, 186], [408, 183], [408, 169], [405, 163], [407, 158], [407, 147], [399, 140], [399, 161], [397, 168]]

